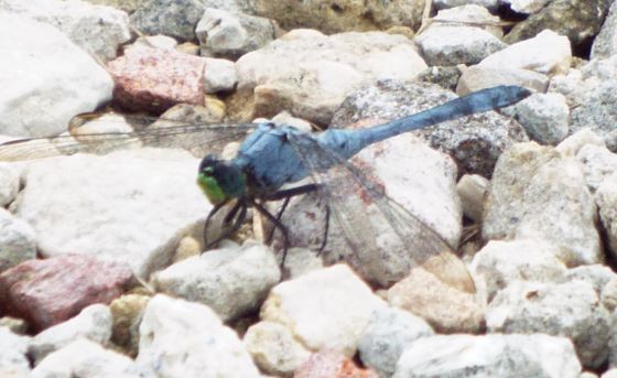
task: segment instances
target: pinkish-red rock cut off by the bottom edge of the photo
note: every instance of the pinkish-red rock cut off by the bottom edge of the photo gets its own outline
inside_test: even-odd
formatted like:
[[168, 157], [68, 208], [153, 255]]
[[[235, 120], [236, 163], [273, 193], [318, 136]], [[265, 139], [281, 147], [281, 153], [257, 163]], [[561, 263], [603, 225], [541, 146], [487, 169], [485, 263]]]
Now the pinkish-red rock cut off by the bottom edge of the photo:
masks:
[[378, 378], [372, 370], [360, 369], [340, 352], [326, 349], [313, 354], [293, 378]]

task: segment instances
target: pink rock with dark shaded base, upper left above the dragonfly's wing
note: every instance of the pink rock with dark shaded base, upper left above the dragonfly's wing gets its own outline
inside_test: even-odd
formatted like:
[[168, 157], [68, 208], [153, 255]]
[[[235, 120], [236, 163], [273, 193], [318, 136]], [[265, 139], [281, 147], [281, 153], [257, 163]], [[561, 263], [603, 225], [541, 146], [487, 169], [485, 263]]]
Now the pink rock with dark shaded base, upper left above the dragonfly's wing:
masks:
[[205, 64], [204, 57], [175, 50], [136, 47], [107, 68], [120, 106], [162, 112], [181, 102], [204, 105]]

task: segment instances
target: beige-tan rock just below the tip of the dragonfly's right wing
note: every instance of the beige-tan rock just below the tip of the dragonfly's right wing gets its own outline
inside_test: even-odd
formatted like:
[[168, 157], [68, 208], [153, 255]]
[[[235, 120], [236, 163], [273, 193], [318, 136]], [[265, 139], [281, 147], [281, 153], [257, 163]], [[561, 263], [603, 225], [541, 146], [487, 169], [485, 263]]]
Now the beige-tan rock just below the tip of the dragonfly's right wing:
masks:
[[388, 290], [388, 303], [407, 310], [440, 333], [476, 333], [480, 331], [485, 301], [475, 293], [457, 290], [423, 269]]

